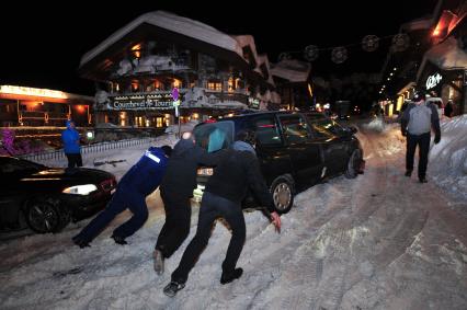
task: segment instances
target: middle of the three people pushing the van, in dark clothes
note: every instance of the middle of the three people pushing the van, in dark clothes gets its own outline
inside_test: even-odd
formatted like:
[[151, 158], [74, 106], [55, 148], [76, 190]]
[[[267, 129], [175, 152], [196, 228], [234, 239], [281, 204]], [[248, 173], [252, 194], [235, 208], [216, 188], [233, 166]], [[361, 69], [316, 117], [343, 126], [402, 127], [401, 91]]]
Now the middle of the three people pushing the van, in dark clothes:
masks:
[[191, 202], [196, 188], [198, 165], [215, 165], [218, 153], [208, 153], [195, 145], [192, 133], [186, 131], [173, 147], [166, 175], [160, 185], [160, 196], [166, 210], [166, 222], [159, 233], [152, 253], [153, 268], [163, 273], [164, 260], [169, 259], [190, 233]]

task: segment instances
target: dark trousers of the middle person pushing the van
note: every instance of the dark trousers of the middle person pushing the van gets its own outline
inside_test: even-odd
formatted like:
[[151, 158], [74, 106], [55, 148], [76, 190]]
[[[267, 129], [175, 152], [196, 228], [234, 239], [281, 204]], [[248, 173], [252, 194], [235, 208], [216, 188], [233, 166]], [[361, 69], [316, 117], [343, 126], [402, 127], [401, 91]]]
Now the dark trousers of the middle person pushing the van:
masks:
[[157, 239], [156, 249], [164, 259], [172, 256], [190, 233], [192, 207], [190, 197], [160, 192], [166, 210], [166, 222]]

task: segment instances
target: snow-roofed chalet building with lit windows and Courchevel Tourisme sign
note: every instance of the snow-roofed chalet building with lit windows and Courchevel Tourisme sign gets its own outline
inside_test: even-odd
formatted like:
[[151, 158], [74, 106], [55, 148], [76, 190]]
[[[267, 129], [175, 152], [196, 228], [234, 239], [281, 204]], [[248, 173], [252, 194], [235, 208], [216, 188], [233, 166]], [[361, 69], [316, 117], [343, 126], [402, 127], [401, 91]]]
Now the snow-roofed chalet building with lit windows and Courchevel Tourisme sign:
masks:
[[267, 57], [257, 54], [252, 36], [162, 11], [139, 16], [87, 53], [79, 72], [99, 84], [98, 126], [161, 128], [178, 116], [203, 120], [280, 103]]

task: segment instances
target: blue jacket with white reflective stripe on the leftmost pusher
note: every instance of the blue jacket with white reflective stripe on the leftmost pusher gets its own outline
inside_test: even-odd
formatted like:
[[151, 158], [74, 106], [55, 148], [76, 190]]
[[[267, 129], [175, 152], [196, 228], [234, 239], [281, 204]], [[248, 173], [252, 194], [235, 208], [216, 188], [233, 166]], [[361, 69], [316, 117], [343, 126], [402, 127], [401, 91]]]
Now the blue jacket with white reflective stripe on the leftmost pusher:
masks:
[[119, 186], [132, 192], [148, 196], [162, 181], [168, 158], [161, 148], [150, 147], [139, 161], [125, 173]]

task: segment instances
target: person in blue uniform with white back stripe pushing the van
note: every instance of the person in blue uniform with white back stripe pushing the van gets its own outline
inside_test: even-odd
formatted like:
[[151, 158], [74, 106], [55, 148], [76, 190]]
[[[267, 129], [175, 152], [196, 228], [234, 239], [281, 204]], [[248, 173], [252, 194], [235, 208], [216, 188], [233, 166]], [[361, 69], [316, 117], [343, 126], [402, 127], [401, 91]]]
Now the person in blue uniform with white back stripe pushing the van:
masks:
[[150, 147], [122, 177], [106, 208], [72, 238], [73, 243], [80, 248], [89, 246], [117, 215], [128, 208], [133, 213], [132, 218], [118, 226], [111, 237], [117, 244], [127, 244], [125, 238], [134, 234], [148, 219], [146, 196], [159, 186], [171, 151], [170, 146]]

